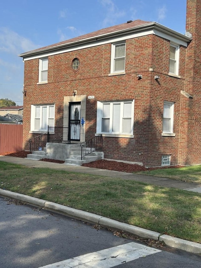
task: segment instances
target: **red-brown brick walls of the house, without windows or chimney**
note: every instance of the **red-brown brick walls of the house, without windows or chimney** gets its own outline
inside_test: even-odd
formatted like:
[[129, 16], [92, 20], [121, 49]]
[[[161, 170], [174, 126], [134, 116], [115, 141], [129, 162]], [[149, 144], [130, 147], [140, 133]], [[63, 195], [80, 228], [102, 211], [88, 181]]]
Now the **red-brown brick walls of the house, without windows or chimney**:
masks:
[[[180, 48], [181, 79], [168, 76], [168, 40], [149, 35], [126, 40], [125, 75], [110, 73], [111, 44], [91, 47], [48, 57], [48, 84], [37, 85], [39, 60], [25, 61], [23, 146], [28, 149], [31, 104], [55, 103], [55, 125], [63, 123], [63, 96], [94, 95], [86, 101], [86, 139], [96, 133], [97, 101], [135, 100], [134, 138], [103, 137], [104, 157], [143, 162], [146, 166], [161, 164], [161, 156], [171, 154], [171, 164], [178, 163], [180, 91], [184, 90], [185, 48]], [[80, 59], [78, 71], [71, 67]], [[150, 71], [149, 68], [153, 68]], [[141, 80], [137, 75], [142, 74]], [[159, 75], [159, 82], [154, 79]], [[163, 102], [175, 102], [175, 137], [162, 137]]]

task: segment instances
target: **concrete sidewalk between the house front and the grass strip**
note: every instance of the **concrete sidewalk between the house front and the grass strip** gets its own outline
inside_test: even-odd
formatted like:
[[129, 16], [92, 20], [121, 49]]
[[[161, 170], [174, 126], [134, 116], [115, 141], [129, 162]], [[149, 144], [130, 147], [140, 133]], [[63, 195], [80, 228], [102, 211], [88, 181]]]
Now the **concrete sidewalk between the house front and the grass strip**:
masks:
[[12, 156], [0, 156], [0, 161], [20, 164], [20, 165], [24, 165], [27, 167], [47, 167], [47, 168], [66, 170], [66, 171], [72, 171], [72, 172], [87, 173], [87, 174], [92, 174], [92, 175], [122, 178], [126, 180], [134, 180], [138, 182], [160, 185], [163, 187], [177, 188], [177, 189], [201, 193], [201, 183], [189, 183], [189, 182], [184, 182], [184, 181], [171, 180], [167, 178], [144, 176], [144, 175], [138, 175], [138, 174], [133, 174], [133, 173], [126, 173], [126, 172], [119, 172], [119, 171], [105, 170], [105, 169], [98, 169], [98, 168], [91, 168], [91, 167], [57, 164], [57, 163], [52, 163], [52, 162], [38, 161], [38, 160], [29, 159], [29, 158], [19, 158], [19, 157], [12, 157]]

